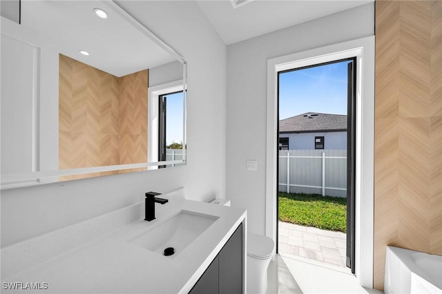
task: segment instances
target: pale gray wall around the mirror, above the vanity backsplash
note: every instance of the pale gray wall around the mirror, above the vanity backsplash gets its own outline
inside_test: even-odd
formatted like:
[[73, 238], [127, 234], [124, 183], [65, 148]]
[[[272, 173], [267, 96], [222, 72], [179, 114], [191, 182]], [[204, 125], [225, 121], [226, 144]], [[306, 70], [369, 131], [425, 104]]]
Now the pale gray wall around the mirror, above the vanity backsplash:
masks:
[[[188, 164], [2, 190], [1, 247], [140, 202], [149, 190], [167, 192], [183, 186], [189, 199], [224, 197], [226, 46], [193, 1], [119, 5], [188, 61]], [[218, 156], [213, 158], [213, 153]]]

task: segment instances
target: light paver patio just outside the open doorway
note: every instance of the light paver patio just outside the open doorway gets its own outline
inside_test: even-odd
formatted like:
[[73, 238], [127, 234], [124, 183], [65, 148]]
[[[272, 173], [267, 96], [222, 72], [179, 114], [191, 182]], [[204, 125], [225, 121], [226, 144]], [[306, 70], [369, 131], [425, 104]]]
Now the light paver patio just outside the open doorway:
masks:
[[278, 222], [278, 251], [345, 268], [347, 235]]

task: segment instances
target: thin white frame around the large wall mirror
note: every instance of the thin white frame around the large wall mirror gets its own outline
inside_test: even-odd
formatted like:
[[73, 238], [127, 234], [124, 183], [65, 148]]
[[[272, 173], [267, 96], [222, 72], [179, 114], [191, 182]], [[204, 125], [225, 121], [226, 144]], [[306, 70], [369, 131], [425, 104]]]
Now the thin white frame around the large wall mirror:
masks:
[[[106, 172], [113, 170], [126, 170], [131, 168], [147, 168], [145, 171], [157, 169], [157, 166], [165, 166], [165, 165], [175, 165], [175, 164], [186, 164], [186, 146], [187, 146], [187, 61], [181, 55], [179, 55], [173, 48], [164, 43], [160, 38], [153, 34], [148, 28], [143, 26], [139, 21], [128, 14], [126, 10], [120, 7], [114, 1], [106, 1], [106, 3], [115, 10], [124, 20], [128, 21], [128, 23], [133, 26], [133, 28], [142, 32], [143, 35], [154, 41], [158, 46], [166, 50], [170, 55], [172, 55], [177, 61], [182, 63], [183, 66], [183, 79], [182, 79], [182, 90], [183, 90], [183, 138], [182, 138], [182, 159], [180, 160], [171, 160], [171, 161], [152, 161], [138, 164], [119, 164], [113, 166], [95, 166], [95, 167], [87, 167], [87, 168], [70, 168], [65, 170], [39, 170], [37, 171], [36, 165], [32, 164], [32, 169], [34, 171], [27, 173], [14, 173], [14, 174], [1, 174], [0, 175], [0, 190], [6, 190], [10, 188], [21, 188], [28, 186], [39, 186], [41, 184], [54, 184], [54, 183], [63, 183], [66, 181], [59, 182], [58, 177], [66, 176], [66, 175], [84, 175], [88, 173], [97, 173], [97, 172]], [[3, 17], [1, 17], [3, 19]], [[153, 87], [154, 88], [154, 87]], [[149, 91], [150, 92], [150, 91]], [[35, 99], [35, 97], [32, 97]], [[37, 98], [38, 100], [39, 98]], [[39, 103], [39, 101], [35, 101]], [[151, 103], [151, 97], [148, 97], [148, 104]], [[35, 117], [41, 117], [40, 112], [35, 110]], [[148, 115], [148, 119], [150, 120], [150, 116]], [[36, 124], [39, 124], [37, 118], [34, 119]], [[33, 144], [35, 145], [36, 141], [39, 141], [39, 130], [35, 126], [32, 127], [32, 136], [33, 136]], [[150, 139], [151, 131], [148, 128], [148, 137]], [[37, 157], [37, 159], [33, 159], [33, 161], [39, 161], [41, 155], [35, 153], [32, 157]], [[148, 156], [148, 160], [149, 160]], [[57, 178], [57, 179], [55, 179]]]

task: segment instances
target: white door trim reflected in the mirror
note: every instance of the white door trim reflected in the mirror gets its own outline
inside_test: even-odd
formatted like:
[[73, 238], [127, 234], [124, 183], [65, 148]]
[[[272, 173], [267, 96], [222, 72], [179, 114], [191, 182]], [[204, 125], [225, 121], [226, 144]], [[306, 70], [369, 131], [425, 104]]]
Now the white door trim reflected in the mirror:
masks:
[[[149, 87], [148, 89], [148, 141], [151, 142], [151, 148], [148, 150], [147, 161], [158, 161], [158, 98], [160, 95], [169, 94], [171, 92], [184, 91], [183, 80], [171, 81], [166, 84], [160, 84], [157, 86]], [[183, 98], [184, 99], [184, 98]], [[184, 125], [186, 122], [184, 121]], [[185, 142], [183, 134], [183, 144]], [[184, 157], [183, 157], [184, 159]], [[158, 166], [152, 167], [157, 169]]]

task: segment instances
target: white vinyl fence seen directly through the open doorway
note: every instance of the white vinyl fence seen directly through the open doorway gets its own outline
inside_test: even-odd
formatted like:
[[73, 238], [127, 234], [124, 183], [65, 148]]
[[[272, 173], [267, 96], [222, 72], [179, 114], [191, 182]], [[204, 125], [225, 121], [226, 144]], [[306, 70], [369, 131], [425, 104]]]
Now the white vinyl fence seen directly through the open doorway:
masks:
[[279, 191], [347, 197], [347, 150], [280, 150]]

